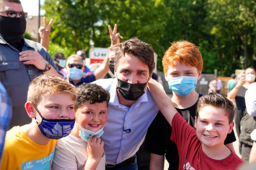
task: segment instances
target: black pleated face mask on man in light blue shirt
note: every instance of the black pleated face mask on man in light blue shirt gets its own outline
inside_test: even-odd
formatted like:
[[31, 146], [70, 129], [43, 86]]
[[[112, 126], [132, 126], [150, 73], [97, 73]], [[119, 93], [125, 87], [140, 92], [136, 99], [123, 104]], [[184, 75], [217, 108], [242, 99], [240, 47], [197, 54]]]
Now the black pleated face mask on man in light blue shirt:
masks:
[[123, 96], [125, 100], [132, 100], [135, 101], [139, 99], [145, 92], [144, 88], [146, 87], [147, 83], [137, 83], [131, 84], [126, 81], [120, 80], [117, 78], [118, 87], [117, 90]]

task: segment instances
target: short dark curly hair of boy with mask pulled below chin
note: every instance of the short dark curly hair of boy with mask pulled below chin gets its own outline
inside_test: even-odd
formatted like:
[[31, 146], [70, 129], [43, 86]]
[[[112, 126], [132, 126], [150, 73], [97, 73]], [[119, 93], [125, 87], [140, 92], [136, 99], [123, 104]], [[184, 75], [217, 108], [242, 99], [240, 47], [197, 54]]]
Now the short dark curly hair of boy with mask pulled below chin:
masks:
[[90, 104], [108, 102], [110, 99], [109, 92], [95, 84], [82, 84], [76, 87], [76, 100], [75, 100], [75, 111], [78, 107], [84, 105], [84, 102], [90, 101]]

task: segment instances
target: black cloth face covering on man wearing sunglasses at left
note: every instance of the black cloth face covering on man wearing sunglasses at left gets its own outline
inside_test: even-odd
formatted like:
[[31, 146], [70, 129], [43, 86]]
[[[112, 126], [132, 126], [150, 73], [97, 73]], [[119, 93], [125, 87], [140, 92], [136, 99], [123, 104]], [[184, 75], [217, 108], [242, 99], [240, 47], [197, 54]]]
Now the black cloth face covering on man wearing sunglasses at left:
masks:
[[0, 34], [4, 40], [14, 47], [24, 44], [23, 34], [26, 30], [26, 19], [0, 17]]

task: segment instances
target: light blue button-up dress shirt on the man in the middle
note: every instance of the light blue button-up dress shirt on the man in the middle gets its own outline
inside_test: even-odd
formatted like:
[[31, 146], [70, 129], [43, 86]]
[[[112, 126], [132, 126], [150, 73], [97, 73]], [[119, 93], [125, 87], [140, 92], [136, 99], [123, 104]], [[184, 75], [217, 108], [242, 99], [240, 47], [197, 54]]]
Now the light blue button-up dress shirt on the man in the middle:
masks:
[[[159, 109], [148, 89], [131, 107], [126, 107], [119, 103], [117, 97], [117, 78], [99, 79], [92, 83], [101, 85], [110, 93], [108, 120], [100, 138], [104, 141], [106, 163], [115, 165], [131, 158], [139, 150]], [[127, 129], [131, 132], [124, 131]]]

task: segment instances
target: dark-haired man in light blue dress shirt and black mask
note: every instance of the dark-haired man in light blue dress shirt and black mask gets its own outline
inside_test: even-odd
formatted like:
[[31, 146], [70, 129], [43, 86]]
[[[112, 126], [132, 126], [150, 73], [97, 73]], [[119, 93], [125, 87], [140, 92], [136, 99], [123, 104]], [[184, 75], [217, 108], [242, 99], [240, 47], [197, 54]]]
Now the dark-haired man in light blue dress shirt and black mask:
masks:
[[115, 54], [116, 78], [95, 84], [110, 93], [108, 121], [102, 140], [106, 169], [137, 169], [136, 152], [147, 129], [159, 111], [147, 89], [155, 68], [154, 51], [149, 44], [132, 38], [124, 41]]

